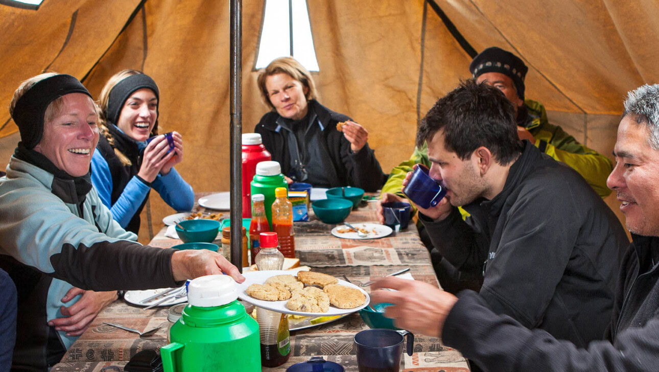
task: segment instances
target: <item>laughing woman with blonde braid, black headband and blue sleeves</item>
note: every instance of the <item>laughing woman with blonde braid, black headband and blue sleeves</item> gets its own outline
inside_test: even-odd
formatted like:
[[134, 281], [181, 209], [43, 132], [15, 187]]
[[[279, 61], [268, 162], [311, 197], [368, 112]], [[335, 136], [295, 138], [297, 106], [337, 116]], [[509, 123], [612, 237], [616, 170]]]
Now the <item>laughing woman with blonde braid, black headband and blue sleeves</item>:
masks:
[[174, 169], [183, 160], [183, 139], [171, 133], [170, 150], [165, 135], [158, 135], [156, 82], [140, 71], [124, 70], [109, 78], [99, 101], [101, 136], [92, 158], [92, 183], [121, 227], [140, 230], [140, 212], [152, 188], [175, 210], [192, 209], [192, 187]]

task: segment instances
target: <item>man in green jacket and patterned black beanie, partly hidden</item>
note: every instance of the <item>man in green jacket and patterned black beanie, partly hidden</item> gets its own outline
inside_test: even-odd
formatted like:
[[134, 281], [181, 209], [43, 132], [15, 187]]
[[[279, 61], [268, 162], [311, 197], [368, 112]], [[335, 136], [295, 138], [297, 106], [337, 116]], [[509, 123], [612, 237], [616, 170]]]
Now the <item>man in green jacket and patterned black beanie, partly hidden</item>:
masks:
[[[506, 98], [513, 102], [517, 111], [517, 135], [520, 139], [529, 140], [542, 152], [579, 172], [600, 197], [605, 198], [610, 195], [611, 190], [606, 187], [606, 177], [613, 170], [611, 160], [580, 144], [558, 125], [550, 124], [547, 112], [540, 102], [525, 100], [524, 78], [529, 68], [519, 57], [498, 47], [488, 47], [471, 61], [469, 71], [476, 82], [486, 81], [488, 85], [499, 88]], [[405, 199], [405, 195], [401, 192], [403, 179], [407, 172], [413, 170], [415, 164], [423, 164], [430, 168], [426, 143], [416, 146], [411, 158], [394, 167], [389, 173], [389, 179], [382, 187], [381, 199], [377, 206], [380, 223], [384, 222], [380, 203]], [[460, 212], [463, 218], [469, 216], [462, 208]], [[450, 264], [443, 262], [441, 255], [436, 250], [432, 251], [430, 240], [425, 239], [427, 234], [422, 231], [422, 226], [419, 227], [422, 240], [431, 249], [432, 261], [442, 286], [449, 292], [463, 289], [465, 286], [478, 290], [482, 276], [478, 273], [457, 272]], [[457, 283], [454, 280], [463, 283], [454, 287], [453, 284]]]

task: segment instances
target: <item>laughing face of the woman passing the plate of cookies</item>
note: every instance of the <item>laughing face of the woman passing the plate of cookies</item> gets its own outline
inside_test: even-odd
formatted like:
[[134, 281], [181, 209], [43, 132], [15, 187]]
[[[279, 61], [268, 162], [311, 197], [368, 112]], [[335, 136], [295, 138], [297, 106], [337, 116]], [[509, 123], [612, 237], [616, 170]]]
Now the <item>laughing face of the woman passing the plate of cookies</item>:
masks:
[[82, 93], [62, 96], [62, 109], [43, 125], [43, 137], [34, 146], [59, 170], [73, 177], [89, 171], [98, 143], [96, 109], [92, 98]]

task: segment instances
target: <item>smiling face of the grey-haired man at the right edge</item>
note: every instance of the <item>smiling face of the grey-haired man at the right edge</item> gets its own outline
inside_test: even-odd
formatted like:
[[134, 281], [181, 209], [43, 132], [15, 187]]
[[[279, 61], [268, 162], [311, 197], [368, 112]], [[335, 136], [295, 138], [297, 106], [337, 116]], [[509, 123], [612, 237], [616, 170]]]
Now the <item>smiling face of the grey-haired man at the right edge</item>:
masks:
[[650, 146], [649, 136], [647, 123], [623, 117], [614, 147], [616, 167], [606, 185], [616, 191], [629, 232], [659, 236], [659, 150]]

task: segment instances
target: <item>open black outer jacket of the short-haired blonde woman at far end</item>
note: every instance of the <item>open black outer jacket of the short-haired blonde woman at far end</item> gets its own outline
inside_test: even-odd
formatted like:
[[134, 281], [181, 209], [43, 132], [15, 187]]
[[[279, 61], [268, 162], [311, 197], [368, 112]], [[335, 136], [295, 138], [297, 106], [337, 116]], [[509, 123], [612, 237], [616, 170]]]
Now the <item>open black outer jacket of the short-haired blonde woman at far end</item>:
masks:
[[[323, 125], [324, 153], [333, 164], [328, 172], [328, 179], [333, 183], [331, 187], [355, 186], [365, 191], [376, 191], [386, 181], [386, 175], [382, 172], [380, 163], [368, 143], [357, 153], [353, 154], [350, 149], [349, 140], [343, 137], [343, 133], [336, 130], [340, 121], [350, 120], [341, 113], [331, 111], [322, 106], [316, 100], [308, 102], [310, 109], [314, 109], [318, 119]], [[263, 139], [266, 150], [272, 154], [272, 160], [279, 162], [281, 173], [287, 175], [291, 170], [291, 156], [289, 154], [289, 141], [285, 131], [277, 124], [279, 114], [270, 111], [261, 117], [254, 128]]]

